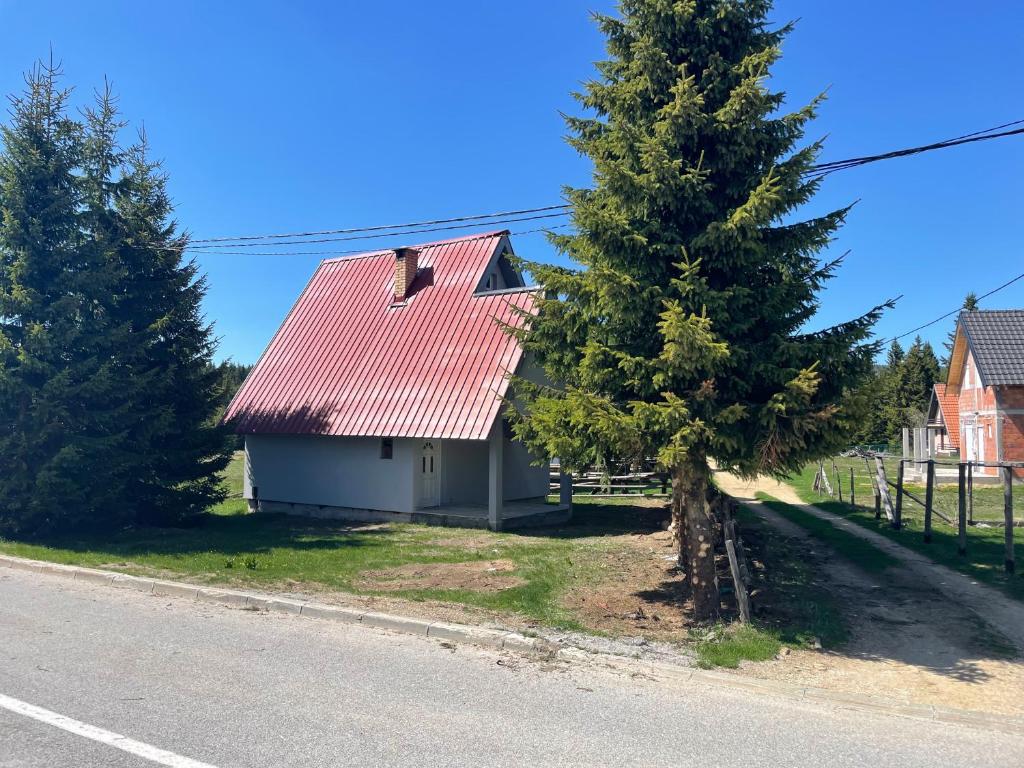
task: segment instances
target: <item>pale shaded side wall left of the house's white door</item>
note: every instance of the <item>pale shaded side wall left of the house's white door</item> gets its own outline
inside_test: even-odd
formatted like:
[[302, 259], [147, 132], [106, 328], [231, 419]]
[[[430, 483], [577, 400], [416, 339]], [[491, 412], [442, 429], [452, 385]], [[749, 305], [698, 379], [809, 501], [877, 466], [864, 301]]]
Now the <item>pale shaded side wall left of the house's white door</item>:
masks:
[[381, 459], [379, 437], [247, 435], [244, 496], [264, 501], [412, 512], [419, 443], [395, 438]]

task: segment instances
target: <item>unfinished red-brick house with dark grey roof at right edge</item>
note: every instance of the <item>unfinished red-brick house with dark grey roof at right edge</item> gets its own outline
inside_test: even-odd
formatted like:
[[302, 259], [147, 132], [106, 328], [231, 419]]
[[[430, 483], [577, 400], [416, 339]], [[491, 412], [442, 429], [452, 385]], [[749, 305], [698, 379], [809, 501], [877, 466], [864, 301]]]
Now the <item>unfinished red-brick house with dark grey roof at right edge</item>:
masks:
[[961, 313], [945, 391], [956, 397], [963, 460], [1024, 462], [1024, 310]]

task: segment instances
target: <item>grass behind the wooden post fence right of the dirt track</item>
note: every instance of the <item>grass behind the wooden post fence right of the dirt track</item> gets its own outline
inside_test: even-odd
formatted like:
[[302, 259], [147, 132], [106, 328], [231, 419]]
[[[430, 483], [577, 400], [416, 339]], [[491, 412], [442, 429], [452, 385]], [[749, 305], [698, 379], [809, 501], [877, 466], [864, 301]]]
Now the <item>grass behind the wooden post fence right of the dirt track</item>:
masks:
[[[814, 475], [817, 471], [816, 465], [808, 465], [802, 473], [790, 479], [790, 484], [794, 486], [798, 495], [805, 502], [814, 504], [822, 509], [847, 517], [858, 525], [862, 525], [871, 530], [876, 530], [883, 536], [889, 537], [893, 541], [902, 544], [908, 549], [927, 555], [936, 562], [948, 565], [963, 573], [978, 579], [979, 581], [999, 587], [1011, 596], [1024, 600], [1024, 573], [1018, 572], [1016, 575], [1008, 575], [1004, 570], [1004, 560], [1006, 549], [1004, 545], [1004, 530], [996, 527], [985, 527], [983, 525], [973, 525], [968, 528], [968, 551], [966, 556], [957, 553], [956, 528], [944, 523], [938, 516], [933, 516], [932, 521], [932, 542], [926, 544], [923, 538], [924, 530], [924, 510], [909, 499], [903, 501], [903, 529], [894, 530], [886, 519], [885, 514], [881, 520], [874, 519], [874, 502], [871, 494], [870, 481], [864, 469], [862, 459], [837, 458], [836, 464], [840, 468], [843, 477], [844, 503], [837, 499], [830, 499], [816, 493], [813, 488]], [[890, 465], [892, 465], [890, 467]], [[825, 463], [826, 467], [830, 462]], [[853, 466], [855, 472], [859, 467], [859, 473], [855, 477], [855, 489], [857, 506], [852, 507], [849, 502], [849, 467]], [[887, 474], [891, 478], [896, 477], [895, 462], [887, 462]], [[836, 482], [833, 480], [834, 490]], [[1019, 487], [1019, 486], [1018, 486]], [[907, 489], [924, 499], [924, 488], [915, 485], [907, 485]], [[999, 518], [1001, 519], [1002, 489], [999, 487], [975, 487], [975, 519], [981, 521], [986, 516], [986, 509], [994, 507], [994, 495], [998, 495]], [[1017, 488], [1015, 488], [1017, 490]], [[956, 509], [956, 486], [937, 486], [936, 509], [938, 509], [950, 519], [955, 520]], [[949, 514], [950, 496], [952, 498], [952, 515]], [[1024, 494], [1018, 490], [1018, 496], [1024, 498]], [[988, 501], [985, 501], [988, 500]], [[1024, 501], [1020, 503], [1018, 512], [1024, 515]], [[1024, 529], [1017, 529], [1016, 553], [1020, 569], [1024, 570]]]

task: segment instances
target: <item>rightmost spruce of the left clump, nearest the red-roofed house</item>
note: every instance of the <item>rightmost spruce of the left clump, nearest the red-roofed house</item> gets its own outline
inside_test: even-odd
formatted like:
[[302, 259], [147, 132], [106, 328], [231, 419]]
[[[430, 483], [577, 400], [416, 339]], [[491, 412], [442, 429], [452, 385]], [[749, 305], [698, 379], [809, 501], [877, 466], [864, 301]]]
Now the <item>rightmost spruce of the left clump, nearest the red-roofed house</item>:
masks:
[[115, 311], [130, 328], [134, 446], [127, 498], [144, 522], [196, 514], [224, 498], [218, 473], [232, 438], [218, 423], [227, 390], [213, 365], [213, 328], [201, 314], [206, 278], [183, 258], [167, 178], [144, 134], [124, 155], [112, 218], [121, 287]]

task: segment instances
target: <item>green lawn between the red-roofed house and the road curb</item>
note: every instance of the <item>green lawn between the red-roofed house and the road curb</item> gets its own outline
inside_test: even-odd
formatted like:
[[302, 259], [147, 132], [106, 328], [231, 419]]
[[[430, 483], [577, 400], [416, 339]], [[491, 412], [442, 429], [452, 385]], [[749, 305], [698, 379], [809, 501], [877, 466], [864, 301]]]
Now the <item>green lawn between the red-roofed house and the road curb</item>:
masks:
[[[241, 494], [242, 459], [225, 472], [228, 493]], [[187, 526], [132, 528], [114, 534], [0, 540], [0, 552], [22, 557], [199, 584], [387, 594], [440, 600], [538, 623], [582, 630], [562, 607], [569, 587], [599, 575], [600, 564], [624, 548], [615, 537], [658, 529], [660, 511], [633, 500], [579, 500], [572, 523], [525, 535], [413, 524], [358, 525], [286, 515], [251, 515], [239, 496]], [[411, 563], [505, 559], [523, 584], [497, 592], [469, 589], [374, 589], [368, 571]], [[387, 585], [382, 585], [387, 587]]]

